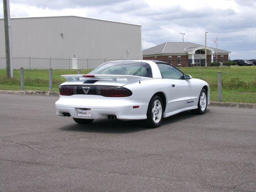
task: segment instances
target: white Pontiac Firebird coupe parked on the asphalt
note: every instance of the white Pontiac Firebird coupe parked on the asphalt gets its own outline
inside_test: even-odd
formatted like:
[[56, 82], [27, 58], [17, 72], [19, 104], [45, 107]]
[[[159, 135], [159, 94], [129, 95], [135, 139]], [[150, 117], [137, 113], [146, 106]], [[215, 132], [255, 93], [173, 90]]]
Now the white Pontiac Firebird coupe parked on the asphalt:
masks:
[[79, 124], [94, 119], [146, 120], [151, 128], [182, 111], [204, 114], [210, 87], [174, 66], [155, 60], [112, 61], [86, 75], [62, 75], [55, 103], [59, 116]]

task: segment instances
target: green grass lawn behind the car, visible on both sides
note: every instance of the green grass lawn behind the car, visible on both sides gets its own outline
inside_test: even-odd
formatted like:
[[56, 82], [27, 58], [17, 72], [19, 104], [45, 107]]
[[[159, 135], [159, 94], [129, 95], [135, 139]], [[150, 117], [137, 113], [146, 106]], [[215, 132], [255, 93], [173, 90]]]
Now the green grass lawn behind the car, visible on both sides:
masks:
[[[200, 78], [210, 84], [211, 100], [218, 100], [217, 76], [222, 72], [222, 87], [224, 102], [256, 103], [256, 67], [209, 67], [205, 68], [180, 68], [185, 74], [193, 78]], [[82, 70], [87, 74], [91, 70]], [[60, 77], [63, 74], [77, 74], [77, 70], [53, 70], [53, 91], [58, 91], [58, 86], [65, 81]], [[48, 90], [48, 70], [24, 70], [25, 90]], [[0, 69], [0, 90], [20, 90], [20, 70], [14, 70], [14, 78], [6, 78], [6, 70]]]

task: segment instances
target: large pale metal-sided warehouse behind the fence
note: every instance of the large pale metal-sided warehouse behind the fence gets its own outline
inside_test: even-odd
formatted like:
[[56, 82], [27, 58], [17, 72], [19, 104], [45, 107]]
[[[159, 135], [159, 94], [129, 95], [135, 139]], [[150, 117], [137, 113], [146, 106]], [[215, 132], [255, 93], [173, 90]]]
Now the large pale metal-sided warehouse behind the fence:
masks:
[[[141, 59], [141, 25], [78, 16], [11, 18], [13, 67], [96, 68], [110, 60]], [[5, 68], [0, 19], [0, 68]]]

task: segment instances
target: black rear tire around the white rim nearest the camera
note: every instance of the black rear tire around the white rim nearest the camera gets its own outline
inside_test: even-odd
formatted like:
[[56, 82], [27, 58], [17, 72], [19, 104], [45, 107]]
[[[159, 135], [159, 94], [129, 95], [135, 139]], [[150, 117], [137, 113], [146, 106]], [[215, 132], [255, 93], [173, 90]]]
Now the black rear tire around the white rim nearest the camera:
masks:
[[[162, 114], [161, 114], [161, 118], [158, 118], [159, 122], [154, 122], [153, 114], [152, 114], [153, 104], [156, 100], [158, 100], [161, 103], [161, 111], [162, 111], [161, 113]], [[159, 111], [156, 111], [156, 112], [159, 112]], [[155, 95], [151, 98], [151, 100], [148, 104], [147, 120], [146, 120], [148, 127], [156, 128], [156, 127], [160, 126], [160, 124], [163, 120], [163, 114], [164, 114], [164, 105], [163, 105], [162, 99], [158, 95]]]

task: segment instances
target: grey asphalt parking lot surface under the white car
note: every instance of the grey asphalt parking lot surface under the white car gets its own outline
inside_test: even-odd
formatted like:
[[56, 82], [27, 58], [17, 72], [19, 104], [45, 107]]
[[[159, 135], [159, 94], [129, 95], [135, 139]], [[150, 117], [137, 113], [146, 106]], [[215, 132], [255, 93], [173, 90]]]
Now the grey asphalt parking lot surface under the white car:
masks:
[[208, 107], [156, 129], [76, 124], [54, 96], [0, 94], [0, 191], [256, 191], [256, 110]]

